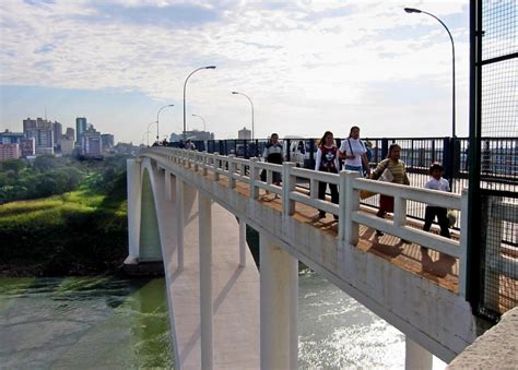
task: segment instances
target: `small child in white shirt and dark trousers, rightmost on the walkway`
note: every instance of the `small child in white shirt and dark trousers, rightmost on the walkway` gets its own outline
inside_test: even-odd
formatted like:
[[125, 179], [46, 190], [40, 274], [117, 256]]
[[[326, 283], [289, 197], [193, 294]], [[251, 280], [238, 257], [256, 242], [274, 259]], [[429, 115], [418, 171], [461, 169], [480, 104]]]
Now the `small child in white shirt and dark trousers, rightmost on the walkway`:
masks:
[[[429, 166], [429, 180], [424, 184], [426, 189], [449, 191], [449, 182], [448, 180], [443, 179], [443, 166], [438, 162], [434, 162], [432, 166]], [[437, 222], [440, 226], [440, 235], [449, 238], [447, 210], [443, 207], [426, 205], [423, 230], [429, 231], [429, 227], [432, 226], [435, 216], [437, 216]]]

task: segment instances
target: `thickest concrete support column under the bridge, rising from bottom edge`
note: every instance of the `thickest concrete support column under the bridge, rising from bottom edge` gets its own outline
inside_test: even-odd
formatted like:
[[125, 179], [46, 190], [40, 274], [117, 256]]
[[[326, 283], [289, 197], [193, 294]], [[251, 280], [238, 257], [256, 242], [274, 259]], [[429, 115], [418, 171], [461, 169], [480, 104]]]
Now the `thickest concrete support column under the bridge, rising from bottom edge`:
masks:
[[260, 235], [261, 369], [297, 369], [298, 261]]

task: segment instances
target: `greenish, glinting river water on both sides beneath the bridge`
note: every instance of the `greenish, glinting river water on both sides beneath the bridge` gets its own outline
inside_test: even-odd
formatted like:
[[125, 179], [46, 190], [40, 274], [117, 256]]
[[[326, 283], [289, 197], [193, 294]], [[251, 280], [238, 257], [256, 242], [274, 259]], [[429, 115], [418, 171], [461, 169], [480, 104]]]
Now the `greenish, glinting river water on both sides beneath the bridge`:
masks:
[[[310, 270], [298, 311], [301, 369], [404, 367], [404, 335]], [[0, 368], [174, 368], [165, 281], [0, 278]]]

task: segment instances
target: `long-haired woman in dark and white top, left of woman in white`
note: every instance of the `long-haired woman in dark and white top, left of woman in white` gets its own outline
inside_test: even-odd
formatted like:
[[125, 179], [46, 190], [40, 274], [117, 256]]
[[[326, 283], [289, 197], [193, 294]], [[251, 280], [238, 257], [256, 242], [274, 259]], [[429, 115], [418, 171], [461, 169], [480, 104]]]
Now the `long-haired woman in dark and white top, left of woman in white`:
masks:
[[[317, 162], [315, 164], [315, 170], [338, 174], [339, 163], [338, 163], [338, 147], [334, 145], [334, 140], [332, 132], [326, 131], [322, 139], [318, 145], [317, 151]], [[318, 183], [318, 199], [323, 200], [326, 198], [327, 182]], [[331, 190], [331, 202], [338, 204], [338, 187], [333, 183], [329, 184]], [[326, 212], [320, 211], [318, 213], [318, 218], [326, 217]], [[334, 219], [338, 219], [338, 216], [334, 215]]]

